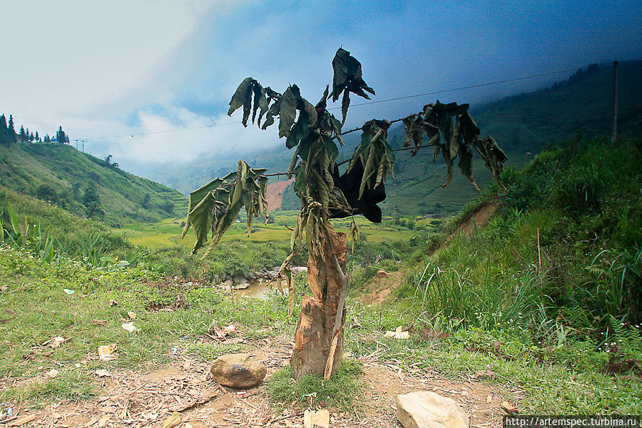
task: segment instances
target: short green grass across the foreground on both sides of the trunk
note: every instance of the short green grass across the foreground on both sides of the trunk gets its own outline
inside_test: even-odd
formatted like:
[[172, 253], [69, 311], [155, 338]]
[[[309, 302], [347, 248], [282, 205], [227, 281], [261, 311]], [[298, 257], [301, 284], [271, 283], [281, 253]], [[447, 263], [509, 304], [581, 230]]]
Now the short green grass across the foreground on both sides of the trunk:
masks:
[[[304, 278], [297, 277], [295, 312], [287, 317], [287, 297], [278, 294], [250, 301], [206, 283], [165, 277], [145, 263], [114, 269], [66, 258], [41, 263], [6, 246], [0, 247], [0, 280], [8, 286], [0, 293], [0, 305], [8, 309], [0, 323], [5, 344], [0, 349], [0, 400], [32, 410], [52, 403], [92, 402], [101, 393], [94, 374], [98, 369], [146, 372], [176, 358], [205, 363], [275, 342], [280, 335], [292, 337], [305, 291]], [[63, 289], [75, 292], [68, 295]], [[347, 362], [347, 372], [327, 384], [311, 378], [296, 384], [285, 371], [275, 372], [267, 380], [272, 405], [297, 409], [310, 403], [332, 411], [360, 410], [360, 385], [367, 377], [360, 360], [367, 359], [370, 365], [394, 364], [405, 375], [437, 373], [472, 387], [485, 384], [510, 402], [519, 398], [519, 409], [526, 414], [642, 412], [635, 372], [603, 371], [610, 350], [587, 346], [573, 335], [533, 337], [519, 322], [454, 328], [432, 320], [422, 330], [425, 315], [398, 302], [364, 305], [355, 291], [347, 300], [352, 328], [346, 330], [346, 350], [353, 359]], [[32, 310], [34, 305], [39, 311]], [[127, 321], [139, 330], [123, 330], [121, 324]], [[213, 321], [233, 323], [243, 340], [208, 340]], [[383, 337], [398, 325], [409, 328], [409, 340]], [[49, 346], [54, 337], [64, 342]], [[118, 345], [118, 358], [99, 360], [98, 347], [109, 344]], [[640, 344], [626, 346], [634, 350]], [[52, 369], [58, 372], [54, 377], [46, 374]], [[312, 394], [315, 391], [319, 394]]]

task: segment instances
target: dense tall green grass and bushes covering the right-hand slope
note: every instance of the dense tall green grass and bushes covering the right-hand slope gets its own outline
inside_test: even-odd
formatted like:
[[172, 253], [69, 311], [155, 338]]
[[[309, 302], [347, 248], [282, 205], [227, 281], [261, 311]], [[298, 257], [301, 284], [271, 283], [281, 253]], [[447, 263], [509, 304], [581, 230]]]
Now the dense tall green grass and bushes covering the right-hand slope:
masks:
[[640, 323], [641, 162], [632, 141], [575, 139], [506, 170], [501, 215], [450, 240], [400, 295], [464, 326]]

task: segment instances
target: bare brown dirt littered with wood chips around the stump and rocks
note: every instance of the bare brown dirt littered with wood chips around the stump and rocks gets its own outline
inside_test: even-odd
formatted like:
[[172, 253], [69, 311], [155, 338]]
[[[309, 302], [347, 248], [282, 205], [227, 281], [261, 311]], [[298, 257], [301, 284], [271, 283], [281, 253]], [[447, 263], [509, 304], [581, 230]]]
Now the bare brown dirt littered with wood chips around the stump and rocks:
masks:
[[[287, 365], [291, 349], [291, 338], [285, 336], [248, 343], [248, 352], [267, 365], [266, 379]], [[437, 372], [402, 372], [394, 358], [382, 364], [374, 357], [360, 358], [366, 384], [362, 397], [365, 404], [350, 413], [330, 409], [330, 427], [401, 427], [396, 417], [397, 394], [421, 390], [459, 402], [469, 415], [471, 427], [501, 425], [504, 413], [500, 404], [506, 390], [480, 382], [493, 373], [479, 373], [454, 382]], [[161, 427], [175, 411], [181, 414], [179, 428], [303, 427], [305, 404], [282, 409], [268, 401], [265, 382], [243, 392], [213, 382], [208, 371], [208, 364], [176, 356], [175, 362], [153, 372], [101, 372], [102, 377], [96, 374], [95, 380], [100, 385], [98, 397], [79, 404], [54, 404], [36, 412], [16, 408], [14, 415], [18, 418], [0, 423], [0, 427], [10, 427], [24, 416], [35, 418], [22, 427]]]

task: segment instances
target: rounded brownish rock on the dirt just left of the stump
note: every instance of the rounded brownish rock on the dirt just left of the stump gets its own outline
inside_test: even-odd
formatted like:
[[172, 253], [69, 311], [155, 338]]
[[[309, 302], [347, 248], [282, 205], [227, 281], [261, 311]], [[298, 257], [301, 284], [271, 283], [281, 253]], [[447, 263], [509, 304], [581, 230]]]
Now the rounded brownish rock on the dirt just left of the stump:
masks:
[[250, 354], [221, 355], [210, 367], [212, 379], [233, 388], [248, 389], [260, 384], [267, 367]]

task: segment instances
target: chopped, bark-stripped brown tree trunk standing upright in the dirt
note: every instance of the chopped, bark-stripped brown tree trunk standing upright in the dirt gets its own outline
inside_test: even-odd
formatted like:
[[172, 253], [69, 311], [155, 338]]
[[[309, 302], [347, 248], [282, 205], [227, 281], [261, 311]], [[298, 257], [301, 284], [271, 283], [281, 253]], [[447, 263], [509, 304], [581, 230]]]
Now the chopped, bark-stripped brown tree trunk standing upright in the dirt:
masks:
[[[312, 296], [303, 297], [295, 332], [290, 360], [295, 379], [309, 373], [330, 377], [339, 370], [343, 360], [346, 236], [345, 233], [330, 233], [330, 236], [332, 245], [325, 257], [310, 253], [307, 261], [307, 282]], [[337, 272], [338, 267], [341, 272]]]

